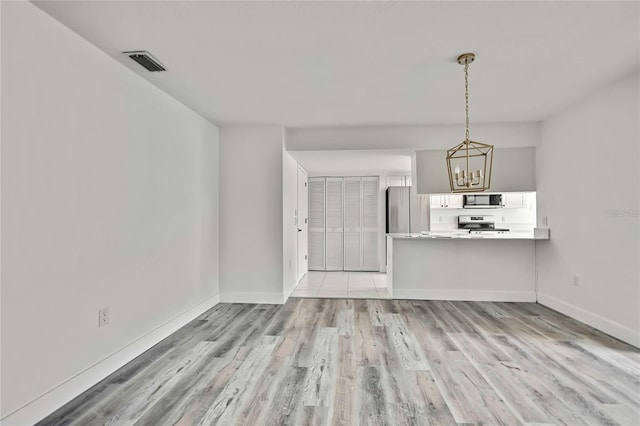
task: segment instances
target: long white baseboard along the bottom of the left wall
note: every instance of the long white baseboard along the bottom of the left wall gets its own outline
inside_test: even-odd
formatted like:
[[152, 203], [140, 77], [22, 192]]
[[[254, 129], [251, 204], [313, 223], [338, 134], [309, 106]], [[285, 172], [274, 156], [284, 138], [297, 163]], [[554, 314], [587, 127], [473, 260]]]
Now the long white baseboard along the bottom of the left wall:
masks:
[[114, 371], [118, 370], [137, 356], [174, 333], [190, 321], [205, 313], [220, 302], [218, 295], [210, 297], [199, 305], [180, 314], [155, 330], [145, 334], [102, 361], [94, 364], [83, 372], [69, 378], [62, 384], [40, 395], [33, 401], [23, 405], [18, 410], [9, 413], [0, 420], [2, 426], [32, 425], [67, 402], [71, 401], [91, 386], [98, 383]]

